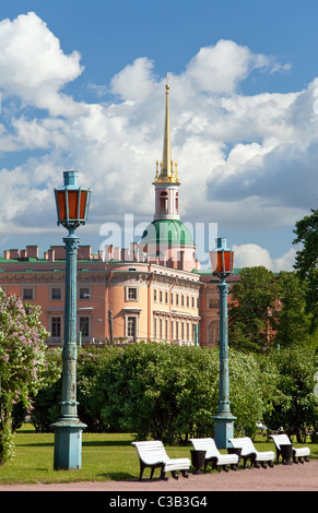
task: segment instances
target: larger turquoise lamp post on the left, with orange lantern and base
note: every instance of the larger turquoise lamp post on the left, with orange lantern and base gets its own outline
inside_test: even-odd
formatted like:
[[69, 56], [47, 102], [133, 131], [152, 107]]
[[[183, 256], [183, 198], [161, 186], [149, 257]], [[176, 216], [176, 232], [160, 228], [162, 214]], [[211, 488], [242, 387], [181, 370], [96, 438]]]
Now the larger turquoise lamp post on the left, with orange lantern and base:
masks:
[[79, 469], [82, 464], [82, 431], [76, 403], [76, 254], [80, 239], [75, 229], [87, 218], [91, 191], [78, 184], [78, 171], [64, 171], [64, 184], [55, 189], [58, 225], [68, 229], [66, 244], [64, 343], [62, 353], [62, 401], [55, 430], [54, 468]]

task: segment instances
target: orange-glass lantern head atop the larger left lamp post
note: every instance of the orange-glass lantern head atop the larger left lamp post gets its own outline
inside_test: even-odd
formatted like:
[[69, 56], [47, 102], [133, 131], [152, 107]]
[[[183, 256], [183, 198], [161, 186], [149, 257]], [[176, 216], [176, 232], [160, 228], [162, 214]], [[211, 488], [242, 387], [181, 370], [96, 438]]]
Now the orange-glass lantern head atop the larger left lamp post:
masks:
[[58, 225], [69, 229], [84, 225], [87, 219], [91, 191], [79, 186], [78, 177], [78, 171], [64, 171], [63, 187], [55, 189]]

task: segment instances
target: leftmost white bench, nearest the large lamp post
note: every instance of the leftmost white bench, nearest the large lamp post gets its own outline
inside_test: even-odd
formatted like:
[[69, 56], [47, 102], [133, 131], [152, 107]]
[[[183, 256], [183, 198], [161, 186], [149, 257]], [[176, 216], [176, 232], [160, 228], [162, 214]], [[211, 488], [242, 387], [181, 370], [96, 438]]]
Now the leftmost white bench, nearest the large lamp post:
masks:
[[140, 461], [140, 476], [141, 481], [142, 474], [145, 467], [151, 468], [152, 479], [155, 468], [161, 468], [161, 478], [166, 478], [166, 473], [170, 472], [173, 477], [177, 479], [176, 472], [180, 470], [184, 477], [188, 477], [187, 470], [190, 468], [191, 462], [188, 457], [174, 457], [170, 458], [164, 448], [163, 442], [160, 440], [146, 441], [146, 442], [132, 442], [132, 445], [137, 449], [139, 461]]

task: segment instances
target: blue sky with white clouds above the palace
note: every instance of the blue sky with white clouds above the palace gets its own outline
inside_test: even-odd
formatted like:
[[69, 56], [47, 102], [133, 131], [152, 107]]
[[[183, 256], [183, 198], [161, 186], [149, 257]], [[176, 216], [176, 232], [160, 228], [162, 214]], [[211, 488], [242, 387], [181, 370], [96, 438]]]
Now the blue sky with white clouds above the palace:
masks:
[[71, 169], [92, 190], [81, 244], [138, 240], [168, 73], [179, 210], [202, 265], [213, 225], [236, 267], [292, 270], [295, 223], [317, 208], [317, 26], [315, 0], [5, 2], [0, 253], [62, 243], [54, 189]]

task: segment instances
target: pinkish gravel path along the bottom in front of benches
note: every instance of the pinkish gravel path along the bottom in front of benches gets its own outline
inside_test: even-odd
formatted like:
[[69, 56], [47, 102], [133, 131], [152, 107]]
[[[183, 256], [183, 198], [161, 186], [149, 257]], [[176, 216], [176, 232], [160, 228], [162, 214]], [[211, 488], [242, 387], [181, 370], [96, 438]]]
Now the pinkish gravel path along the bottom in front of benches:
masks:
[[220, 474], [189, 474], [185, 479], [172, 477], [167, 481], [143, 479], [141, 482], [103, 481], [71, 482], [54, 485], [11, 485], [0, 486], [1, 491], [109, 491], [109, 492], [166, 492], [172, 491], [318, 491], [318, 461], [293, 465], [274, 465], [274, 468], [247, 468]]

